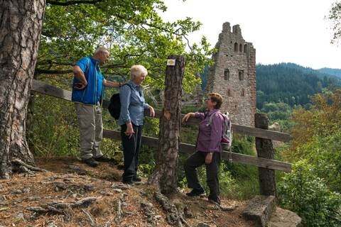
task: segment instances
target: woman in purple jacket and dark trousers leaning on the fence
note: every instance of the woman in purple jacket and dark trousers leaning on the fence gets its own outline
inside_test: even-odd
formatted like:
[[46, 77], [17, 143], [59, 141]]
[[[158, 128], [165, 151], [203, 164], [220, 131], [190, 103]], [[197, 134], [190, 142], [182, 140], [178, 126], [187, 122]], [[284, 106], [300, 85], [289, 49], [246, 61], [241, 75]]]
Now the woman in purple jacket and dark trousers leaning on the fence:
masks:
[[[193, 189], [187, 193], [188, 196], [200, 196], [205, 194], [197, 179], [196, 168], [206, 165], [207, 185], [210, 188], [208, 199], [220, 204], [219, 199], [219, 179], [218, 170], [220, 165], [220, 154], [222, 151], [220, 141], [222, 140], [222, 126], [224, 117], [220, 114], [222, 106], [222, 96], [217, 93], [211, 93], [205, 100], [207, 111], [202, 113], [188, 113], [183, 117], [183, 121], [188, 118], [200, 118], [199, 134], [197, 135], [196, 152], [185, 161], [185, 175], [188, 187]], [[212, 116], [213, 115], [213, 116]], [[210, 117], [212, 121], [210, 123]]]

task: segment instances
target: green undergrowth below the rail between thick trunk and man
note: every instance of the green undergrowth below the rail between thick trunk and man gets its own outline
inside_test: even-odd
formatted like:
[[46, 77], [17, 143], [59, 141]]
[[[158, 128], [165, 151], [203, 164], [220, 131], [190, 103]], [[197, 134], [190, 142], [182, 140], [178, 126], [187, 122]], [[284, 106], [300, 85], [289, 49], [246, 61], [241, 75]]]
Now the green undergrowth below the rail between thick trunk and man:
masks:
[[28, 139], [35, 155], [77, 156], [79, 131], [70, 102], [36, 96], [33, 125]]

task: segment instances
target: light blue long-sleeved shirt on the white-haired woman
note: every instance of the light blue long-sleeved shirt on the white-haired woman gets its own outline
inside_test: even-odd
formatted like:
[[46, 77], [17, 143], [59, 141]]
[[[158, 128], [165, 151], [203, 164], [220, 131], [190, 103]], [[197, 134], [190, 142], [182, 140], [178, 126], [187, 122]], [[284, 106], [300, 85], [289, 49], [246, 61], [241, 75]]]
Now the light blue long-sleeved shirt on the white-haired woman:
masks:
[[141, 85], [132, 81], [129, 81], [128, 84], [131, 85], [131, 88], [125, 85], [119, 89], [121, 112], [118, 123], [120, 126], [127, 122], [142, 126], [144, 124], [144, 109], [148, 109], [149, 105], [145, 103]]

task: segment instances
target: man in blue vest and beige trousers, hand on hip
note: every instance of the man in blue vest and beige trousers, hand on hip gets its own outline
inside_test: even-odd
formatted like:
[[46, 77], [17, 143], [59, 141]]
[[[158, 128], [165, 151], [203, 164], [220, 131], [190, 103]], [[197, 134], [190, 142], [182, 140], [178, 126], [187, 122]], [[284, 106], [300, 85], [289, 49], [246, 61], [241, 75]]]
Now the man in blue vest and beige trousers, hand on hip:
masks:
[[99, 145], [102, 142], [103, 87], [121, 87], [121, 83], [104, 79], [99, 65], [109, 60], [109, 51], [98, 48], [93, 56], [83, 57], [73, 67], [72, 101], [75, 102], [80, 124], [80, 158], [87, 165], [96, 167], [99, 162], [109, 162]]

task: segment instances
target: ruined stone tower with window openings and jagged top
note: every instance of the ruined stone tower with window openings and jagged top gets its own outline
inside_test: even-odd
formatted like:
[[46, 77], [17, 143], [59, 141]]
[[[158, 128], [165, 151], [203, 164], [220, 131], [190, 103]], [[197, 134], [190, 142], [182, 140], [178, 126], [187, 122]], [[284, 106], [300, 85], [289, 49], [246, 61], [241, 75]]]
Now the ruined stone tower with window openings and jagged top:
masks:
[[222, 95], [220, 110], [229, 112], [232, 123], [254, 126], [256, 113], [256, 49], [242, 37], [239, 25], [228, 22], [215, 45], [215, 65], [207, 73], [207, 93]]

